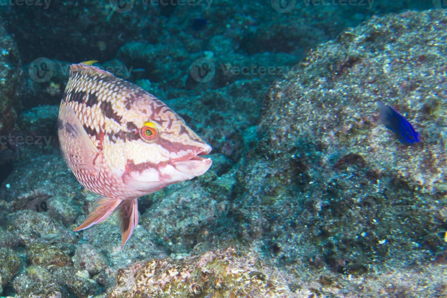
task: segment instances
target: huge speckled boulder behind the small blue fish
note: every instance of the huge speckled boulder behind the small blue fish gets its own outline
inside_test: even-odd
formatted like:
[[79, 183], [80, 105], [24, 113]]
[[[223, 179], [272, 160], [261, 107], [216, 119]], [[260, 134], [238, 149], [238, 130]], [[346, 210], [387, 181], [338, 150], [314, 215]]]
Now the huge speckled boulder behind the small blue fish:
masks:
[[[237, 175], [240, 237], [276, 264], [338, 273], [443, 252], [446, 22], [445, 11], [373, 17], [317, 46], [272, 86], [261, 142]], [[378, 100], [421, 142], [404, 146], [380, 125]]]

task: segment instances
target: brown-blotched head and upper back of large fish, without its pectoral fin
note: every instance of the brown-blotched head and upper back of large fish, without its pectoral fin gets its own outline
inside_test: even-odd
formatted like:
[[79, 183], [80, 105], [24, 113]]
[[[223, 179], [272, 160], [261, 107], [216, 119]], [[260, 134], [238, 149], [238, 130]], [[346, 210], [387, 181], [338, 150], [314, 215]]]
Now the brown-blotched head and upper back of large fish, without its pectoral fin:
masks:
[[107, 71], [72, 65], [64, 93], [110, 171], [132, 188], [152, 193], [200, 176], [211, 147], [149, 92]]

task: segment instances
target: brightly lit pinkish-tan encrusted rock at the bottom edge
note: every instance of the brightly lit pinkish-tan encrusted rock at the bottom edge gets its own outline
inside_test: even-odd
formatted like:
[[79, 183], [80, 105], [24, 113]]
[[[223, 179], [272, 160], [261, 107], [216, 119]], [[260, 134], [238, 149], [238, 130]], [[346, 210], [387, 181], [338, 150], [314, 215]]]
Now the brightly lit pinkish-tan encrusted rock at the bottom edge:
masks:
[[291, 297], [283, 273], [236, 248], [182, 260], [160, 259], [119, 271], [108, 297]]

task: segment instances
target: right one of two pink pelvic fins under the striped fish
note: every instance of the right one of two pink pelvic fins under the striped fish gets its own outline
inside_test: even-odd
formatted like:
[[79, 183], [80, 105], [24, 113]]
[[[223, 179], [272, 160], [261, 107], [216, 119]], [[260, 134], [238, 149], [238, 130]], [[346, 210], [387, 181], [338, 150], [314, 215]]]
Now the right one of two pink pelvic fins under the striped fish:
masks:
[[122, 201], [117, 210], [118, 227], [122, 235], [122, 246], [124, 246], [138, 225], [138, 199]]

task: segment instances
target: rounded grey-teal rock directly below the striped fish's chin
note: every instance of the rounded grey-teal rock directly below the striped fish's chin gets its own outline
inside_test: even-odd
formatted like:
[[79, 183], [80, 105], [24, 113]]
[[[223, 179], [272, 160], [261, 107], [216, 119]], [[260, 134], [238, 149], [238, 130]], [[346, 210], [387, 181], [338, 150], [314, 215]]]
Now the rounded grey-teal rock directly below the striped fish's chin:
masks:
[[[153, 203], [142, 215], [140, 224], [157, 239], [157, 244], [180, 254], [191, 249], [199, 252], [210, 249], [211, 243], [225, 238], [215, 235], [210, 227], [215, 227], [216, 221], [227, 211], [225, 207], [229, 205], [236, 180], [232, 173], [217, 179], [212, 174], [207, 173], [151, 197]], [[200, 247], [202, 244], [206, 248]]]

